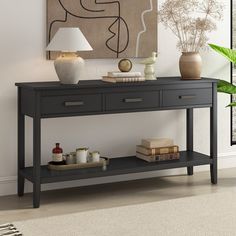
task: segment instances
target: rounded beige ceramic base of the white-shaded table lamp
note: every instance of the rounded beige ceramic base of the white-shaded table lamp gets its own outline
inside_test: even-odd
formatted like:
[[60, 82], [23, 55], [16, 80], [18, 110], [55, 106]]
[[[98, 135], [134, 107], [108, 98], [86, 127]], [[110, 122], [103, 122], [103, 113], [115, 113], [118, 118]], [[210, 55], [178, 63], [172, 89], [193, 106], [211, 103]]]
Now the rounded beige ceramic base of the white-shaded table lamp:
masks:
[[62, 84], [78, 84], [84, 60], [77, 55], [62, 55], [54, 61], [57, 76]]

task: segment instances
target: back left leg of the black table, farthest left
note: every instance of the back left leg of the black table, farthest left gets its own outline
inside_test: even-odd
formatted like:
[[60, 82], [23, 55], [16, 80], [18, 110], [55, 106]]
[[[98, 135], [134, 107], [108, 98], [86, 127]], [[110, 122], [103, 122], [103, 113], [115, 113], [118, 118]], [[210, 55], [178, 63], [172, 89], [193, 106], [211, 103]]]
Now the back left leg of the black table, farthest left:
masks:
[[20, 174], [20, 170], [25, 168], [25, 115], [21, 111], [21, 89], [18, 88], [18, 179], [17, 193], [21, 197], [24, 195], [25, 178]]

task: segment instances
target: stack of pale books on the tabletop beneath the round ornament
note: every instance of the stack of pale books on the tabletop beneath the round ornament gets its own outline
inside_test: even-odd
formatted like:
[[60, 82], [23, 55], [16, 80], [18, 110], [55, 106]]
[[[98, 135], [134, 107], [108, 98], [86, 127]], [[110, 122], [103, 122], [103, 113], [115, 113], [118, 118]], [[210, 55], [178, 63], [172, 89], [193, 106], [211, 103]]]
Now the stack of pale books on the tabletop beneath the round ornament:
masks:
[[141, 82], [145, 81], [141, 72], [108, 72], [102, 77], [102, 81], [110, 83]]

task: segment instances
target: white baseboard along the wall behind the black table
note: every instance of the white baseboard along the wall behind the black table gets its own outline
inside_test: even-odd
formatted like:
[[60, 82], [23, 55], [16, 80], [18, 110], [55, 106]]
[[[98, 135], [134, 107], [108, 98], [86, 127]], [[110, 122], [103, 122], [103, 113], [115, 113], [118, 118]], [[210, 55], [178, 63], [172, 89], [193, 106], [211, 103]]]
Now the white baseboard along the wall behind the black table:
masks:
[[[218, 168], [233, 168], [236, 167], [236, 152], [232, 153], [221, 153], [218, 158]], [[199, 166], [195, 169], [196, 172], [209, 170], [208, 166]], [[127, 174], [123, 176], [113, 176], [113, 177], [102, 177], [99, 179], [89, 179], [89, 180], [79, 180], [79, 181], [69, 181], [63, 183], [54, 183], [54, 184], [45, 184], [42, 186], [42, 190], [53, 190], [60, 188], [71, 188], [75, 186], [85, 186], [85, 185], [93, 185], [99, 183], [110, 183], [114, 181], [125, 181], [125, 180], [133, 180], [133, 179], [145, 179], [152, 177], [159, 177], [165, 175], [176, 175], [176, 174], [184, 174], [186, 170], [184, 168], [181, 169], [173, 169], [173, 170], [164, 170], [164, 171], [153, 171], [148, 173], [138, 173], [138, 174]], [[8, 177], [0, 177], [0, 196], [3, 195], [14, 195], [16, 194], [17, 189], [17, 177], [16, 176], [8, 176]], [[32, 192], [32, 184], [26, 181], [25, 192]]]

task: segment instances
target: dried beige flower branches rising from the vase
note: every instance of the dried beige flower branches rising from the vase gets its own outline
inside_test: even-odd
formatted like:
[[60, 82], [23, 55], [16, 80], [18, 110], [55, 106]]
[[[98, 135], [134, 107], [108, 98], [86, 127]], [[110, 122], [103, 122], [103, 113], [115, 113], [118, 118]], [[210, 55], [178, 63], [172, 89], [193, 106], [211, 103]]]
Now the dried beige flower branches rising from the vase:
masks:
[[[158, 17], [177, 36], [182, 52], [199, 52], [223, 18], [224, 5], [217, 0], [166, 0]], [[193, 16], [194, 15], [194, 16]]]

